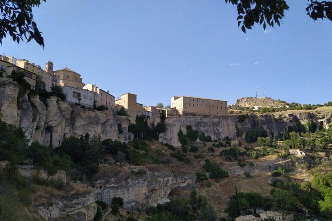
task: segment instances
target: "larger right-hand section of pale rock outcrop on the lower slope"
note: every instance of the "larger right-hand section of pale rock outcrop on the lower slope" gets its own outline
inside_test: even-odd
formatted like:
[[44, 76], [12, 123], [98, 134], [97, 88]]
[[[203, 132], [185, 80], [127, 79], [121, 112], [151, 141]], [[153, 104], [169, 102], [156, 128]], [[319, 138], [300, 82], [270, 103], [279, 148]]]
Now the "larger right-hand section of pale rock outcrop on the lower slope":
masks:
[[174, 188], [195, 188], [195, 179], [195, 175], [174, 177], [166, 171], [147, 171], [144, 176], [129, 178], [126, 174], [119, 174], [109, 181], [99, 180], [96, 182], [96, 189], [98, 191], [100, 186], [103, 186], [103, 190], [97, 193], [100, 200], [111, 203], [114, 197], [121, 197], [124, 200], [124, 208], [133, 210], [167, 202], [168, 195]]

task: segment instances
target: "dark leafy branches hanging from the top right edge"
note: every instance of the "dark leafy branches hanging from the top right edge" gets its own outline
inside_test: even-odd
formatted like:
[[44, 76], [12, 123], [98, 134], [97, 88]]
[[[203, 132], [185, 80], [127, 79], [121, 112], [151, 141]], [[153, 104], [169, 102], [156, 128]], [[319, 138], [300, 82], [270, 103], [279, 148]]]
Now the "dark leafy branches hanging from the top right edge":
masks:
[[[285, 0], [225, 0], [226, 3], [237, 5], [238, 11], [238, 26], [241, 30], [246, 32], [246, 29], [251, 29], [254, 24], [263, 24], [274, 27], [280, 26], [280, 21], [285, 17], [284, 11], [289, 9]], [[317, 1], [307, 0], [308, 7], [306, 8], [307, 15], [314, 21], [321, 18], [327, 18], [332, 21], [332, 2], [331, 1]]]

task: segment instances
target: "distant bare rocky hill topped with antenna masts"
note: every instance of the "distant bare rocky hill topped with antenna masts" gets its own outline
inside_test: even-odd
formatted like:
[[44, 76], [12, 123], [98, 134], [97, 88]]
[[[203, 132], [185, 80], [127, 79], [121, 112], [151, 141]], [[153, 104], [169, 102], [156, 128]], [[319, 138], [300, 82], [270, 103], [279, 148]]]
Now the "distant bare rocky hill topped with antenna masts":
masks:
[[276, 107], [276, 106], [285, 106], [288, 103], [285, 101], [279, 100], [274, 100], [272, 98], [254, 98], [254, 97], [244, 97], [244, 98], [239, 98], [236, 100], [236, 105], [237, 106], [242, 106], [242, 107], [254, 107], [254, 106], [262, 106], [262, 107]]

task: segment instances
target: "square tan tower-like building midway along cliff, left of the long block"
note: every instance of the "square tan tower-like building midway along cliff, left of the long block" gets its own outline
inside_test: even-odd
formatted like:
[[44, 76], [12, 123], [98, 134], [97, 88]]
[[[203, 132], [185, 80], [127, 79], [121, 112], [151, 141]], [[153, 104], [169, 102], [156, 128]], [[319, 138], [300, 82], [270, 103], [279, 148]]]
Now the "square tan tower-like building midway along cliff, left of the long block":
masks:
[[137, 95], [135, 94], [123, 94], [120, 99], [115, 100], [115, 104], [116, 110], [120, 110], [121, 107], [125, 108], [132, 123], [135, 123], [136, 116], [143, 114], [143, 104], [137, 103]]

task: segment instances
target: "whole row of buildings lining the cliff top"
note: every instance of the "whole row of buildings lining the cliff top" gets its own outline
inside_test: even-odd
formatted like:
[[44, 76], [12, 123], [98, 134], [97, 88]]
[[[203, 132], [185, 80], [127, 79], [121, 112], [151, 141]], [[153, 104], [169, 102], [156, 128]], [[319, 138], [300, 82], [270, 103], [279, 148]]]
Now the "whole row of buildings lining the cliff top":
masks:
[[24, 79], [29, 83], [32, 90], [36, 89], [36, 78], [45, 82], [44, 90], [52, 91], [52, 87], [60, 86], [66, 96], [66, 101], [78, 104], [89, 109], [104, 109], [127, 112], [129, 120], [134, 123], [136, 116], [144, 116], [149, 124], [155, 125], [162, 117], [174, 117], [177, 115], [227, 115], [227, 101], [200, 98], [193, 96], [174, 96], [171, 98], [171, 108], [157, 108], [156, 106], [143, 106], [137, 103], [137, 95], [125, 93], [119, 99], [103, 90], [95, 84], [83, 83], [81, 75], [68, 67], [53, 70], [53, 63], [47, 61], [45, 70], [39, 65], [30, 63], [26, 59], [16, 59], [0, 56], [0, 72], [3, 77], [9, 76], [13, 71], [23, 72]]

